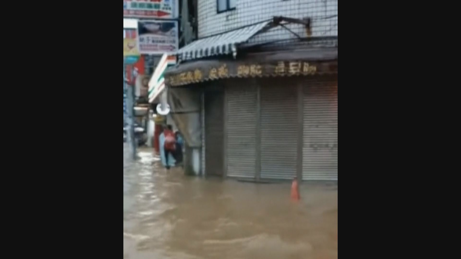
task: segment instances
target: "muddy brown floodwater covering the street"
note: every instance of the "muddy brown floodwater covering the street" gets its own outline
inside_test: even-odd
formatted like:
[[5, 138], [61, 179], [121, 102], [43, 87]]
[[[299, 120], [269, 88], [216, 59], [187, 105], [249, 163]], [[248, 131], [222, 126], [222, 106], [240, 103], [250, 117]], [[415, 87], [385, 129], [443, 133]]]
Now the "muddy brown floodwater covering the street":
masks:
[[165, 170], [124, 144], [124, 259], [337, 258], [337, 185], [254, 184]]

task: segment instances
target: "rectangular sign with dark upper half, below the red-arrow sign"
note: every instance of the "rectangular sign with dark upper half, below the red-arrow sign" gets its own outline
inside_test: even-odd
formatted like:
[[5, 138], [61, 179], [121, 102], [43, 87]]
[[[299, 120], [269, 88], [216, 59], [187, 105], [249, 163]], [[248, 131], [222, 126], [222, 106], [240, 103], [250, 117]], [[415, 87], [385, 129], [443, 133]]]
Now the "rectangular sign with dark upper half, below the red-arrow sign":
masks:
[[158, 55], [178, 49], [177, 21], [139, 21], [138, 43], [141, 54]]

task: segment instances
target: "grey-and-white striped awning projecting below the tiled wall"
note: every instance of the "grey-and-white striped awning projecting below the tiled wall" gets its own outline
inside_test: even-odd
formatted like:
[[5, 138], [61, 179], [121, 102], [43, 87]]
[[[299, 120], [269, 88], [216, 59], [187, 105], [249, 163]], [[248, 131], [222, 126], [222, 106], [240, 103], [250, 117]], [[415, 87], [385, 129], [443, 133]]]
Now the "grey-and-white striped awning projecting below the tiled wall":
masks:
[[215, 55], [236, 53], [237, 44], [248, 41], [272, 20], [210, 36], [190, 43], [179, 49], [176, 55], [181, 60], [199, 59]]

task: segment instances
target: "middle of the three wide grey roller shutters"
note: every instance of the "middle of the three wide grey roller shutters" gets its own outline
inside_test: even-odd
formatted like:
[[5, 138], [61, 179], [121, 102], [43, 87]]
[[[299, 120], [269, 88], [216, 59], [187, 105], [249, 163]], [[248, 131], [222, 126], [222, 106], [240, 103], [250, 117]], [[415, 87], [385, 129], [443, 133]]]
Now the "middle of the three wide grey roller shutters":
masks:
[[261, 87], [261, 178], [296, 176], [297, 88], [288, 82], [277, 80]]

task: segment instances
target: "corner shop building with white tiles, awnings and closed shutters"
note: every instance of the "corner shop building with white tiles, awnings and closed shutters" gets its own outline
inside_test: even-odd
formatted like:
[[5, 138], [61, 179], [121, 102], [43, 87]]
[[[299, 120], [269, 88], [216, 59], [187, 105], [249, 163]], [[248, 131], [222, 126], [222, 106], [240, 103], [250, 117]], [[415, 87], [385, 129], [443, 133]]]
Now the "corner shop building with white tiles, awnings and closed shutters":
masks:
[[199, 0], [197, 13], [165, 84], [172, 110], [200, 102], [199, 130], [173, 117], [199, 136], [201, 173], [336, 181], [337, 0]]

